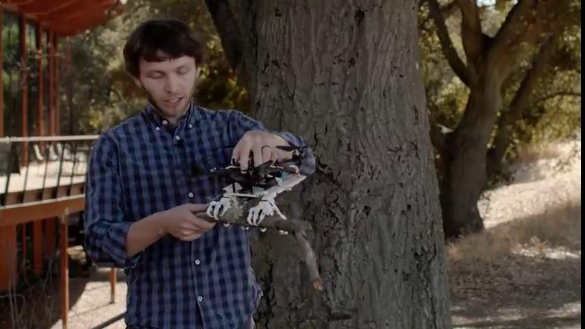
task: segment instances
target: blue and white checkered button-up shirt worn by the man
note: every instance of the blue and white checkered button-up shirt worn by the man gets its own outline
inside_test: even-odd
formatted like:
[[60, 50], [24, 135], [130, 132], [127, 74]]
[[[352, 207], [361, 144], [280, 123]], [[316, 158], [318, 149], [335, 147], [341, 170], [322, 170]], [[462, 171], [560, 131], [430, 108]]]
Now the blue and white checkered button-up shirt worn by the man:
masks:
[[[240, 328], [262, 291], [250, 265], [247, 231], [216, 225], [191, 242], [168, 235], [132, 258], [126, 235], [134, 221], [181, 204], [218, 199], [227, 182], [207, 175], [229, 164], [234, 145], [264, 125], [235, 110], [189, 106], [177, 127], [151, 106], [101, 134], [86, 182], [86, 250], [96, 263], [125, 269], [129, 326]], [[276, 133], [288, 143], [302, 138]], [[314, 157], [301, 173], [314, 171]], [[193, 175], [195, 166], [203, 174]]]

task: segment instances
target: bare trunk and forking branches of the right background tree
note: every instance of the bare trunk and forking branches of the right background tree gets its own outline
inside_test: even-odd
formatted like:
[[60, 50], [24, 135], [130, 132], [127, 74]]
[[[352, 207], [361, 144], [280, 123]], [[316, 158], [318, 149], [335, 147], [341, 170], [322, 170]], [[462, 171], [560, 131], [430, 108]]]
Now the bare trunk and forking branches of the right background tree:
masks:
[[[570, 1], [519, 0], [493, 38], [482, 32], [475, 1], [454, 2], [462, 14], [460, 34], [466, 63], [453, 47], [438, 1], [427, 0], [445, 58], [453, 72], [469, 87], [469, 99], [455, 130], [443, 138], [432, 131], [434, 144], [443, 157], [443, 172], [439, 173], [440, 201], [447, 238], [484, 228], [477, 201], [487, 183], [488, 145], [502, 106], [502, 85], [519, 68], [521, 60], [526, 59], [527, 45], [538, 47], [543, 35], [560, 30], [563, 23], [559, 15], [565, 12]], [[547, 47], [547, 43], [543, 47]], [[542, 66], [543, 58], [538, 60]], [[540, 72], [534, 77], [537, 79], [538, 75]], [[532, 77], [527, 79], [532, 80]], [[531, 81], [518, 90], [519, 106], [525, 105], [525, 96], [532, 93], [535, 84]], [[521, 95], [523, 93], [527, 94]], [[510, 121], [515, 118], [504, 115], [506, 118], [499, 121], [501, 132], [508, 130], [507, 125], [513, 124]]]

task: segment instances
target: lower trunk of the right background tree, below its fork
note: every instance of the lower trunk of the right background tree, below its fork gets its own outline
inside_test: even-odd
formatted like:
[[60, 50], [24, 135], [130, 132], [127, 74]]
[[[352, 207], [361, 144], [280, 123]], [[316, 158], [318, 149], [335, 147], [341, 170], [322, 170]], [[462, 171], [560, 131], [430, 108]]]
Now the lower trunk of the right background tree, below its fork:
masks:
[[440, 188], [447, 239], [484, 229], [477, 202], [487, 182], [486, 155], [501, 106], [501, 84], [483, 76], [482, 83], [471, 87], [464, 117], [447, 141]]

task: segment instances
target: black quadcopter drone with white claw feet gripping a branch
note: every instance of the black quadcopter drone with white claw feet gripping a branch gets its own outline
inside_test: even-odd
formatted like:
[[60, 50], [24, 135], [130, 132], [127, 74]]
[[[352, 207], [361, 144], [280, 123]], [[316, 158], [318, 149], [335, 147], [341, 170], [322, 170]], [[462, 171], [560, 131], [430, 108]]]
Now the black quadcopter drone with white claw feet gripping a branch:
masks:
[[[292, 158], [284, 162], [269, 160], [254, 167], [251, 163], [252, 157], [250, 157], [248, 170], [243, 172], [234, 159], [228, 167], [211, 169], [212, 175], [224, 178], [229, 185], [223, 188], [225, 193], [219, 201], [210, 202], [207, 215], [219, 219], [229, 208], [238, 205], [238, 198], [247, 198], [260, 199], [257, 206], [249, 209], [247, 221], [250, 226], [258, 226], [266, 216], [275, 214], [286, 219], [276, 206], [275, 197], [283, 191], [289, 191], [306, 178], [299, 172], [299, 166], [306, 156], [306, 147], [277, 146], [277, 148], [292, 152]], [[229, 226], [229, 224], [224, 225]]]

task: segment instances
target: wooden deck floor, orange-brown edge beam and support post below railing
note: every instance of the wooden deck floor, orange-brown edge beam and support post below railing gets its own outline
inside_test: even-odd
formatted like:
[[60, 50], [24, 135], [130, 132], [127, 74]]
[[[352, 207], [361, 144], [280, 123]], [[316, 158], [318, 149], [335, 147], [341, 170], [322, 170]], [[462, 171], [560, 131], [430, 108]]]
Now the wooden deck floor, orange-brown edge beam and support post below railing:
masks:
[[[58, 237], [60, 254], [66, 254], [69, 246], [67, 219], [85, 208], [85, 174], [86, 163], [76, 164], [73, 175], [72, 162], [61, 165], [55, 162], [29, 164], [28, 168], [21, 168], [21, 173], [0, 177], [0, 186], [3, 187], [0, 190], [3, 191], [3, 206], [0, 207], [0, 250], [3, 251], [0, 254], [0, 291], [10, 291], [10, 287], [16, 287], [21, 280], [19, 273], [27, 263], [27, 243], [22, 241], [27, 241], [27, 236], [32, 238], [30, 263], [38, 275], [45, 271], [43, 260], [47, 256], [52, 257]], [[8, 193], [5, 192], [7, 190]], [[32, 223], [32, 232], [27, 232], [28, 223]], [[21, 241], [20, 247], [18, 241]], [[60, 291], [62, 324], [66, 328], [69, 310], [67, 257], [60, 257]]]

